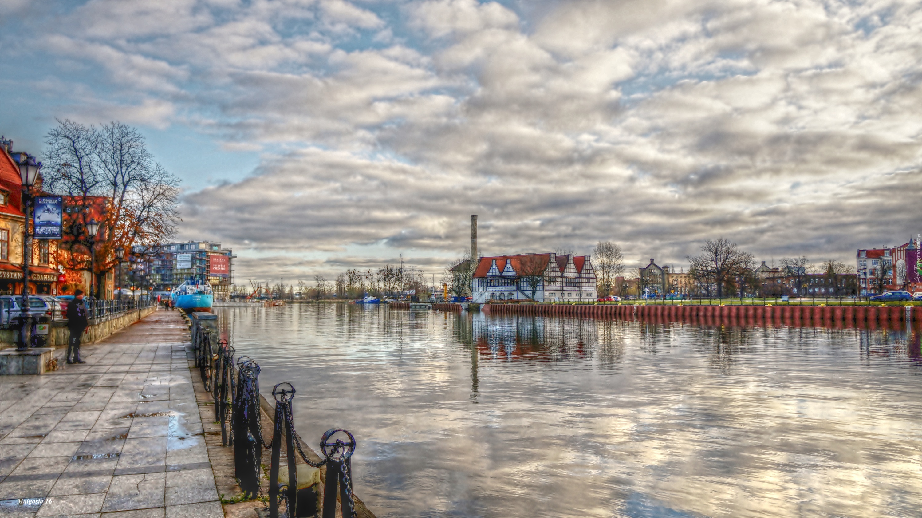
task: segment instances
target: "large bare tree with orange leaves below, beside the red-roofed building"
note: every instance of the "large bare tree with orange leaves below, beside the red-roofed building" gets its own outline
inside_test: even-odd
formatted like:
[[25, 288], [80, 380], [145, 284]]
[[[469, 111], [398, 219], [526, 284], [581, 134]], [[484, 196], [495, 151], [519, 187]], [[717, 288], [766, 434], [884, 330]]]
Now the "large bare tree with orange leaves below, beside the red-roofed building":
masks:
[[[85, 236], [92, 198], [107, 198], [95, 251], [94, 282], [117, 264], [115, 250], [157, 253], [170, 241], [179, 220], [179, 179], [153, 159], [136, 128], [114, 122], [100, 127], [58, 121], [45, 138], [42, 188], [73, 198], [77, 213], [59, 246], [58, 261], [71, 269], [89, 269]], [[75, 249], [75, 246], [77, 247]]]

